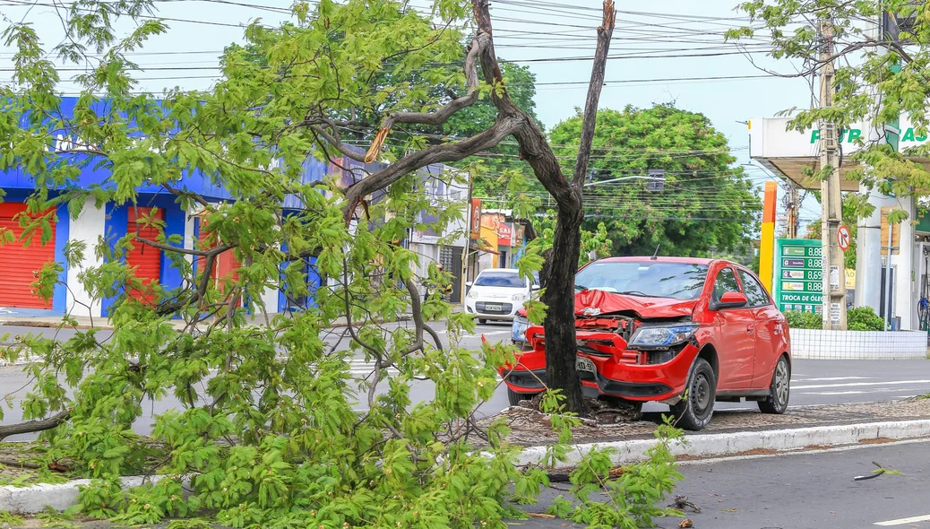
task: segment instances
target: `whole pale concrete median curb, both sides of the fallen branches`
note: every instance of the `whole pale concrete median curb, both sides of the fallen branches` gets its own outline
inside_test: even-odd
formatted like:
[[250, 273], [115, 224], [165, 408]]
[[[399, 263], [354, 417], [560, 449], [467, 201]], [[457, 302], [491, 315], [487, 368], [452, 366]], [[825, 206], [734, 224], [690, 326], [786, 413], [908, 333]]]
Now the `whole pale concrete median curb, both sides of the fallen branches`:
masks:
[[[697, 434], [687, 438], [687, 442], [671, 446], [675, 455], [691, 457], [711, 457], [745, 454], [751, 450], [768, 449], [777, 452], [790, 452], [809, 446], [847, 446], [860, 441], [891, 439], [895, 441], [930, 436], [930, 419], [915, 421], [888, 421], [881, 423], [863, 423], [830, 427], [804, 427], [796, 429], [761, 430], [722, 434]], [[615, 465], [634, 463], [643, 459], [646, 450], [655, 445], [656, 440], [614, 441], [604, 443], [576, 444], [569, 451], [568, 459], [562, 468], [571, 468], [578, 464], [584, 454], [594, 448], [611, 448], [611, 461]], [[537, 464], [546, 453], [545, 446], [525, 448], [517, 457], [517, 465]], [[148, 479], [157, 482], [158, 477]], [[123, 488], [138, 487], [146, 478], [128, 476], [123, 478]], [[0, 486], [0, 510], [14, 514], [35, 514], [42, 512], [46, 506], [64, 510], [73, 506], [81, 486], [89, 480], [74, 480], [57, 485], [32, 485], [28, 487]]]

